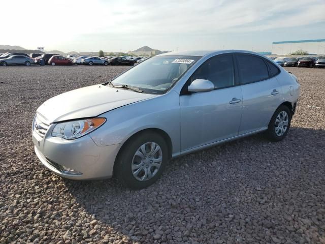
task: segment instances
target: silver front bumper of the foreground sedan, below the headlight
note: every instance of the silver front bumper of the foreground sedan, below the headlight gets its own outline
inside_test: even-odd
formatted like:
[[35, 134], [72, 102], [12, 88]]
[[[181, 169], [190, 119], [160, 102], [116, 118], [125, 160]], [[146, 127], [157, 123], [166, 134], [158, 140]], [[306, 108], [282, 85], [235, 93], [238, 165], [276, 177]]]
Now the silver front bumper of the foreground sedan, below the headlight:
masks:
[[[35, 153], [46, 168], [61, 177], [80, 180], [112, 177], [114, 162], [121, 146], [121, 144], [98, 146], [89, 135], [66, 140], [49, 135], [40, 138], [33, 133], [32, 140]], [[61, 166], [74, 169], [81, 174], [65, 173], [61, 170]]]

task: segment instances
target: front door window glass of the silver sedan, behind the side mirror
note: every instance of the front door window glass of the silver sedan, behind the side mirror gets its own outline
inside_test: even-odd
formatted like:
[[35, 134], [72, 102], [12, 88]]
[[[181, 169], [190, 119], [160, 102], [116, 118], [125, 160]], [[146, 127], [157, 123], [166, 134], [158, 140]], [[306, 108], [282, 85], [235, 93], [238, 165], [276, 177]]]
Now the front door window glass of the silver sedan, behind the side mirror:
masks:
[[190, 82], [196, 79], [210, 80], [216, 89], [233, 86], [235, 84], [233, 56], [211, 57], [192, 74]]

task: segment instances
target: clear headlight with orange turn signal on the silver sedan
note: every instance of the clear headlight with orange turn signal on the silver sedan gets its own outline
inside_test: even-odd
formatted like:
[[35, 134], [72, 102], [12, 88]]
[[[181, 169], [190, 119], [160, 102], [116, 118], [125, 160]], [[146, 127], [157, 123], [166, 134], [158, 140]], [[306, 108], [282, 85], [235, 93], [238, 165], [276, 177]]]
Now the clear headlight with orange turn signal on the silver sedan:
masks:
[[72, 140], [87, 135], [102, 126], [106, 118], [87, 118], [58, 123], [55, 125], [52, 136]]

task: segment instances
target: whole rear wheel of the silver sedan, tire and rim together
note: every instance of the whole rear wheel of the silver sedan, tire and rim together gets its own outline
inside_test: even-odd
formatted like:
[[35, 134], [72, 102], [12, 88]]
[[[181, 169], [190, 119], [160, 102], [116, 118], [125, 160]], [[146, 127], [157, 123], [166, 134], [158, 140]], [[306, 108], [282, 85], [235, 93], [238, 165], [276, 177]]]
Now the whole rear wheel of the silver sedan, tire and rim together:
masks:
[[281, 105], [273, 114], [268, 130], [267, 137], [271, 141], [280, 141], [288, 134], [291, 123], [291, 111], [285, 105]]

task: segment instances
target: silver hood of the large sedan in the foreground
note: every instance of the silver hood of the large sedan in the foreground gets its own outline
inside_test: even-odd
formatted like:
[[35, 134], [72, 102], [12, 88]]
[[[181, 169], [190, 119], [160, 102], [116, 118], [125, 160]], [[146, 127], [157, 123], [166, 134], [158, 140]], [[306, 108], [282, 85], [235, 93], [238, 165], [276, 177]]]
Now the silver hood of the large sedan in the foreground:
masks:
[[94, 117], [112, 109], [149, 99], [157, 95], [92, 85], [60, 94], [44, 102], [37, 112], [49, 123]]

